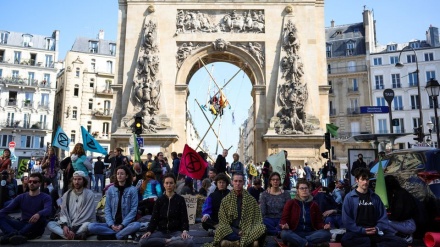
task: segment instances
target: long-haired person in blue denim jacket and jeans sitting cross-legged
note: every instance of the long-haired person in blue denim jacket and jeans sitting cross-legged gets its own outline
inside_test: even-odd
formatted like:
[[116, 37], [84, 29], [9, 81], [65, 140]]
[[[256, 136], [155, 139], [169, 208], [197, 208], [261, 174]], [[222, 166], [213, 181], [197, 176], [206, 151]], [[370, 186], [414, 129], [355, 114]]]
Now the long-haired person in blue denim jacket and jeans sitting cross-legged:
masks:
[[138, 193], [132, 186], [133, 175], [127, 166], [115, 169], [116, 182], [106, 192], [105, 221], [106, 223], [91, 223], [88, 231], [97, 234], [98, 240], [124, 239], [140, 229], [140, 223], [135, 222], [138, 207]]

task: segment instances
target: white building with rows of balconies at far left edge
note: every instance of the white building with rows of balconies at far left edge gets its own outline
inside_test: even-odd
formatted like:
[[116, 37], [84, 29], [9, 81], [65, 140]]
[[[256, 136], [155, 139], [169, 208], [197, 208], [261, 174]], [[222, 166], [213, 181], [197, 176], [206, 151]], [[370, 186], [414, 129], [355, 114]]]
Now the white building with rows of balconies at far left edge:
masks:
[[52, 137], [59, 31], [37, 35], [0, 30], [0, 149], [13, 167], [43, 157]]

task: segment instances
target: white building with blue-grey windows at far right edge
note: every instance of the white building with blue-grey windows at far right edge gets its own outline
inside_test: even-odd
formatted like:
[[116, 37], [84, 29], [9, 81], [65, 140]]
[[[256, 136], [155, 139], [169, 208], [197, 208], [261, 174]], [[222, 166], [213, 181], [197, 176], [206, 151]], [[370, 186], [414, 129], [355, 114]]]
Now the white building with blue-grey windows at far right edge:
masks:
[[[440, 42], [437, 27], [429, 27], [425, 40], [411, 40], [407, 43], [378, 46], [377, 52], [371, 54], [370, 77], [372, 100], [375, 106], [387, 106], [383, 96], [384, 89], [394, 91], [391, 105], [392, 118], [397, 126], [392, 126], [388, 114], [374, 115], [375, 133], [408, 133], [396, 140], [395, 148], [409, 148], [416, 141], [412, 135], [414, 128], [423, 127], [429, 134], [428, 122], [436, 123], [434, 103], [428, 96], [425, 87], [431, 78], [438, 80], [440, 73]], [[400, 60], [399, 60], [400, 57]], [[403, 67], [396, 67], [400, 62]], [[418, 73], [417, 73], [418, 72]], [[420, 84], [420, 85], [419, 85]], [[418, 87], [420, 86], [420, 95]], [[419, 106], [419, 97], [421, 106]], [[420, 107], [422, 121], [420, 118]], [[392, 131], [392, 132], [391, 132]], [[428, 135], [428, 144], [437, 146], [436, 127]]]

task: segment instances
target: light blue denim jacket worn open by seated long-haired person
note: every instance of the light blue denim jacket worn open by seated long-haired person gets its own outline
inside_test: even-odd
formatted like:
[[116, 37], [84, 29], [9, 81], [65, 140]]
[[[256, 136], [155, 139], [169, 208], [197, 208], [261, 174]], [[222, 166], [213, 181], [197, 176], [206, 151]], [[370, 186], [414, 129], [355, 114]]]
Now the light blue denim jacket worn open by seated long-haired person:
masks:
[[[115, 224], [116, 211], [118, 210], [119, 189], [116, 186], [111, 186], [106, 193], [105, 202], [105, 222], [108, 226]], [[122, 225], [128, 226], [135, 220], [138, 206], [138, 192], [136, 187], [130, 186], [124, 189], [122, 194]]]

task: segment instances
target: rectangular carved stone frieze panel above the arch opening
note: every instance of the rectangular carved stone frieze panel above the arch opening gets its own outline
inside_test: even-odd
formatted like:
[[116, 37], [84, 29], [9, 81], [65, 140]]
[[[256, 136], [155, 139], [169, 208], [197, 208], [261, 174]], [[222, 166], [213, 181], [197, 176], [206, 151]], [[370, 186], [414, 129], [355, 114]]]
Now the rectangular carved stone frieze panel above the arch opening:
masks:
[[176, 33], [264, 33], [264, 10], [184, 10], [177, 11]]

